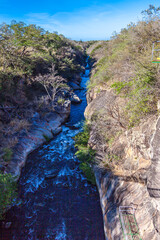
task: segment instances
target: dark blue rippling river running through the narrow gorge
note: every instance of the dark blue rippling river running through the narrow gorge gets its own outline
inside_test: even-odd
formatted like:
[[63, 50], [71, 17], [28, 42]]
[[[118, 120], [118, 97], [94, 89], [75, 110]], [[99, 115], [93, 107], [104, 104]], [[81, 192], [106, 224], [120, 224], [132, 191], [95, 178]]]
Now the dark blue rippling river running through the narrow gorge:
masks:
[[97, 188], [79, 169], [73, 137], [82, 130], [86, 108], [86, 82], [75, 93], [82, 103], [71, 106], [62, 132], [28, 156], [18, 183], [19, 206], [7, 213], [9, 229], [2, 240], [104, 240], [103, 219]]

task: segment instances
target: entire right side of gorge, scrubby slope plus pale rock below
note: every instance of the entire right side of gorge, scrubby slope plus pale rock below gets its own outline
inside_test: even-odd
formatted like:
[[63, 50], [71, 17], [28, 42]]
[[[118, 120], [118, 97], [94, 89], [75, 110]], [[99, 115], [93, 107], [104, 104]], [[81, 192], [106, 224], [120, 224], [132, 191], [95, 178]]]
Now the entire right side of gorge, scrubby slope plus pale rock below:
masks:
[[88, 147], [96, 150], [92, 165], [108, 239], [129, 231], [120, 224], [121, 206], [134, 208], [134, 239], [160, 238], [160, 65], [151, 60], [152, 43], [160, 39], [159, 8], [143, 13], [142, 21], [88, 49]]

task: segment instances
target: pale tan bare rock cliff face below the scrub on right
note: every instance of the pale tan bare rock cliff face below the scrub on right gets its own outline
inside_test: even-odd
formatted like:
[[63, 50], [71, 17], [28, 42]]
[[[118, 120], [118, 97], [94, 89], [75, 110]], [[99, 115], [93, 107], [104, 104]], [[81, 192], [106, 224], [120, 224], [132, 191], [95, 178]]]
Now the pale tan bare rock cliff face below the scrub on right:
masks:
[[[97, 150], [95, 176], [100, 193], [106, 238], [123, 238], [119, 207], [135, 209], [139, 238], [160, 239], [160, 118], [150, 115], [136, 127], [125, 127], [124, 100], [110, 89], [88, 93], [85, 117], [91, 122], [89, 145]], [[157, 119], [158, 118], [158, 119]], [[101, 136], [112, 141], [103, 142]], [[111, 138], [114, 133], [114, 138]], [[116, 134], [117, 133], [117, 134]], [[124, 224], [126, 225], [126, 224]], [[132, 233], [135, 232], [132, 229]], [[126, 238], [126, 239], [131, 239]]]

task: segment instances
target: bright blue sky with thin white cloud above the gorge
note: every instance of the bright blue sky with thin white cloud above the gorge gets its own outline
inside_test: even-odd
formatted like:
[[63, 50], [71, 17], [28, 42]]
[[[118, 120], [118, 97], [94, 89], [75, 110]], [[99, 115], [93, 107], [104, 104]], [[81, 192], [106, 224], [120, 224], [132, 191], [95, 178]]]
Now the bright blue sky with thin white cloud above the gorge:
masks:
[[107, 40], [159, 0], [0, 0], [0, 23], [36, 24], [73, 40]]

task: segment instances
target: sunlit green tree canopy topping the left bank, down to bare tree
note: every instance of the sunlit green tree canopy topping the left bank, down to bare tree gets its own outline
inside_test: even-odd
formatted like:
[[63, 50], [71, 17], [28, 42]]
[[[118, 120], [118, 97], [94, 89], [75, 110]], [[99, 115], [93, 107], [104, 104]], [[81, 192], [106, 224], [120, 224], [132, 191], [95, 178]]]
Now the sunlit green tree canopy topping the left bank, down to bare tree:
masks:
[[66, 78], [70, 80], [79, 73], [84, 60], [82, 44], [34, 24], [16, 21], [0, 25], [0, 52], [1, 102], [8, 95], [19, 102], [18, 91], [25, 95], [38, 84], [54, 100], [60, 81], [64, 84]]

